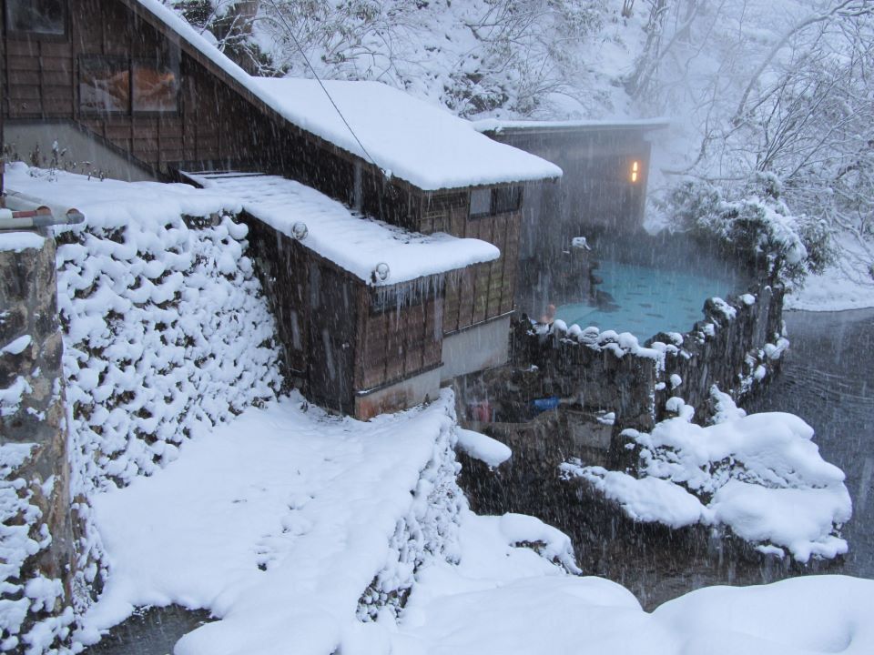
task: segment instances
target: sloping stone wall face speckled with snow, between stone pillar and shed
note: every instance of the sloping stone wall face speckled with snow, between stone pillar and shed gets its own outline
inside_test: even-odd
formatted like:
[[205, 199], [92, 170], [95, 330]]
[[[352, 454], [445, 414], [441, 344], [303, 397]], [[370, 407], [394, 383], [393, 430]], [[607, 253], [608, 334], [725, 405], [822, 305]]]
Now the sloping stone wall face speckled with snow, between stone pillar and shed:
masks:
[[279, 388], [246, 227], [229, 216], [199, 229], [178, 215], [146, 216], [68, 233], [57, 248], [74, 459], [86, 488], [153, 472], [198, 428]]

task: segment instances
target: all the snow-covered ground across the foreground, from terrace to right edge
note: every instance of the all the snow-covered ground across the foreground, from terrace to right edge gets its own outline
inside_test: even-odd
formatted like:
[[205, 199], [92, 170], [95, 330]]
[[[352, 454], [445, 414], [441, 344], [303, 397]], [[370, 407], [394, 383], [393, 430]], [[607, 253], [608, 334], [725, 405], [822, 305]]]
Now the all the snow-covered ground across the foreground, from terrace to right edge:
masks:
[[701, 589], [646, 613], [575, 575], [558, 530], [467, 508], [452, 405], [361, 423], [285, 398], [97, 495], [110, 575], [78, 638], [175, 602], [220, 619], [178, 655], [874, 651], [871, 580]]

